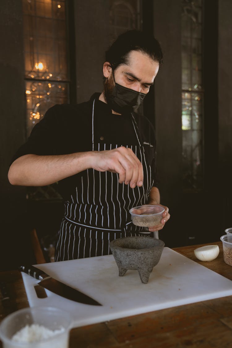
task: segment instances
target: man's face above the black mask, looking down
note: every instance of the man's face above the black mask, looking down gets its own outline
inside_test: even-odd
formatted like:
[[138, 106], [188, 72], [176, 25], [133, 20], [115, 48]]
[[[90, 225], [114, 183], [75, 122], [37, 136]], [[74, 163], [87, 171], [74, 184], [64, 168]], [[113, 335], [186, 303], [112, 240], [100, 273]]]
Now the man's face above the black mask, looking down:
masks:
[[[128, 59], [128, 65], [122, 64], [114, 70], [115, 82], [137, 92], [147, 94], [158, 73], [159, 63], [151, 60], [149, 56], [139, 51], [131, 51]], [[114, 79], [111, 72], [104, 86], [106, 102], [112, 94]]]

